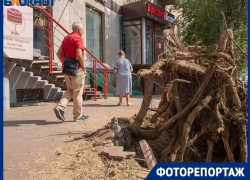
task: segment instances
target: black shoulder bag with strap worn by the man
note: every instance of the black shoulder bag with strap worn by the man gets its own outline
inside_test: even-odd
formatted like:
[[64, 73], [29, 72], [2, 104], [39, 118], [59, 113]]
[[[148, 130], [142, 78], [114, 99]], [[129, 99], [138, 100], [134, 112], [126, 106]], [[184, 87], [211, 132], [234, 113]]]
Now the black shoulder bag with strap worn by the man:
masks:
[[76, 59], [70, 59], [65, 57], [64, 47], [63, 47], [64, 63], [62, 73], [68, 76], [76, 76], [79, 61]]

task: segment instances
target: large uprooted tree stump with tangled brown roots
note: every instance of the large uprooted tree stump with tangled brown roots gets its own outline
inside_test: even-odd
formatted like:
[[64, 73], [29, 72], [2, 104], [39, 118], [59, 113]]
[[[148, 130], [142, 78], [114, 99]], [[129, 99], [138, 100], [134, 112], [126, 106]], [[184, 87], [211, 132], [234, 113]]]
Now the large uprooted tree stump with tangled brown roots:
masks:
[[[173, 39], [168, 39], [172, 54], [137, 73], [147, 82], [131, 132], [146, 140], [171, 132], [158, 154], [160, 161], [189, 161], [187, 156], [194, 153], [206, 162], [247, 162], [248, 87], [237, 77], [233, 32], [226, 29], [218, 44], [210, 47], [184, 47]], [[151, 118], [155, 127], [141, 128], [159, 76], [170, 81]]]

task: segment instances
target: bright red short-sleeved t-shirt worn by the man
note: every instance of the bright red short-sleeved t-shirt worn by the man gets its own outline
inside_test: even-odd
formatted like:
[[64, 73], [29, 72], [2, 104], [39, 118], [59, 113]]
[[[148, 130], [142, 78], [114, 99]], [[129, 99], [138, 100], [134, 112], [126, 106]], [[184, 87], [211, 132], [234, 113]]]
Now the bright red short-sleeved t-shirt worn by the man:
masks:
[[[61, 47], [62, 47], [62, 64], [64, 62], [64, 53], [65, 53], [66, 58], [78, 60], [76, 56], [76, 49], [80, 48], [84, 50], [83, 39], [77, 33], [72, 32], [70, 35], [64, 38]], [[63, 49], [64, 49], [64, 53], [63, 53]], [[80, 69], [81, 67], [82, 66], [79, 63], [78, 69]]]

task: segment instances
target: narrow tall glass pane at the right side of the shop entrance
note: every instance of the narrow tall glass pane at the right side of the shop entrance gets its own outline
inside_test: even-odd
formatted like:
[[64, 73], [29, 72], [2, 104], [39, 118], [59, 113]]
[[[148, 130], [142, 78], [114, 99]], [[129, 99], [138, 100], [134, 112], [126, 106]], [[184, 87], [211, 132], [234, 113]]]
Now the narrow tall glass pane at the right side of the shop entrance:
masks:
[[153, 63], [153, 56], [152, 56], [152, 22], [147, 21], [146, 25], [146, 63], [152, 65]]

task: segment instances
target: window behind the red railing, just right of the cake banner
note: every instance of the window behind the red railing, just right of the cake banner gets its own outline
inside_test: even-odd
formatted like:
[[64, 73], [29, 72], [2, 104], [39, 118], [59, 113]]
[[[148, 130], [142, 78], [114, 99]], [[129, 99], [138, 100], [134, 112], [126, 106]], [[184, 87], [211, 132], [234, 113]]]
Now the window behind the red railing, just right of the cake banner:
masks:
[[44, 36], [48, 37], [48, 31], [45, 30], [48, 27], [47, 22], [44, 19], [47, 19], [47, 16], [42, 13], [38, 9], [33, 9], [34, 18], [34, 39], [33, 39], [33, 47], [35, 49], [40, 49], [41, 54], [40, 56], [48, 56], [49, 55], [49, 49], [45, 46], [49, 44], [48, 39]]

